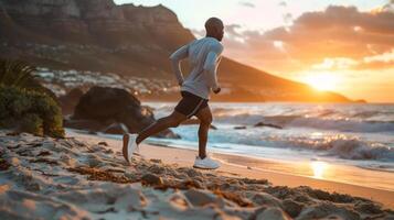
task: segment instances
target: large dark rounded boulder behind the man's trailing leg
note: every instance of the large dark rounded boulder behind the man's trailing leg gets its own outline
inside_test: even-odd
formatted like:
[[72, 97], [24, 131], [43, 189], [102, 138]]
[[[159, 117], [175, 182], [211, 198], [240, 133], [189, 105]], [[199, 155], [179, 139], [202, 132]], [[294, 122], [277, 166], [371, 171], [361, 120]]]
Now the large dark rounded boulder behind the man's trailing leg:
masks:
[[[130, 133], [140, 132], [156, 121], [152, 110], [141, 106], [131, 94], [125, 89], [109, 87], [92, 87], [81, 97], [72, 117], [72, 121], [77, 120], [96, 121], [103, 125], [97, 128], [102, 131], [110, 124], [123, 123]], [[170, 130], [159, 133], [158, 136], [179, 138]]]

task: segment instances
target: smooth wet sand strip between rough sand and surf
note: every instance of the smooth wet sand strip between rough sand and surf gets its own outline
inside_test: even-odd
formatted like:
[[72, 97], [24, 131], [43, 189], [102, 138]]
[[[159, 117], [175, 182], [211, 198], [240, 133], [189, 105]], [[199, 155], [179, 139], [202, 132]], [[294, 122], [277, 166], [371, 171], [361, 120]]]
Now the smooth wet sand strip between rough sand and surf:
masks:
[[[87, 140], [90, 143], [98, 142], [103, 139], [100, 136], [78, 134], [74, 132], [71, 135]], [[105, 141], [115, 147], [120, 147], [121, 145], [121, 142], [117, 140], [106, 139]], [[164, 163], [175, 163], [185, 167], [192, 167], [194, 157], [198, 155], [198, 152], [192, 150], [175, 148], [166, 145], [159, 146], [152, 144], [142, 144], [140, 147], [140, 153], [147, 160], [159, 158]], [[330, 193], [336, 191], [339, 194], [349, 194], [352, 196], [369, 198], [371, 200], [381, 202], [386, 208], [394, 209], [394, 191], [391, 190], [274, 172], [270, 170], [270, 167], [280, 166], [281, 164], [268, 160], [265, 161], [247, 156], [220, 153], [215, 153], [214, 157], [222, 162], [222, 166], [217, 169], [217, 172], [224, 176], [267, 179], [275, 186], [309, 186]]]

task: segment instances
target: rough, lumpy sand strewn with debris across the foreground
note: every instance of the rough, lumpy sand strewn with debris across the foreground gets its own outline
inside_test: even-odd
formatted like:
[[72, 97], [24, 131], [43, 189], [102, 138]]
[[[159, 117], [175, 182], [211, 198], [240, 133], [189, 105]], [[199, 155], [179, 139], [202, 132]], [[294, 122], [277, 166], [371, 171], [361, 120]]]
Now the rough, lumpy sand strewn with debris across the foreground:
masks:
[[369, 199], [0, 131], [0, 219], [394, 219]]

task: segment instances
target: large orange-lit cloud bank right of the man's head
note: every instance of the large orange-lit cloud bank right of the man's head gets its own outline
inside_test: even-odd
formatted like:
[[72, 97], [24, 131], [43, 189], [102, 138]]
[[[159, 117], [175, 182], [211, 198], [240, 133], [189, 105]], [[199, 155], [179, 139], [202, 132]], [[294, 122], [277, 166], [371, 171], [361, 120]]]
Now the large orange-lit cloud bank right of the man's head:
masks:
[[330, 6], [266, 32], [239, 24], [227, 25], [225, 31], [223, 44], [228, 56], [274, 73], [302, 70], [324, 62], [333, 62], [333, 68], [354, 69], [387, 68], [393, 62], [383, 59], [394, 53], [394, 12], [388, 10], [361, 12], [355, 7]]

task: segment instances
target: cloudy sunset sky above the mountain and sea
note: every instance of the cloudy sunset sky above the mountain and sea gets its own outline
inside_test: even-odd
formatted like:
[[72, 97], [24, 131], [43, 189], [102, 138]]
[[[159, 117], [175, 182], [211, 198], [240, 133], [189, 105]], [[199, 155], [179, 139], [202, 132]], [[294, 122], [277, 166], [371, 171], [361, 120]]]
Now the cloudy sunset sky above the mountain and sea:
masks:
[[352, 99], [394, 102], [394, 0], [115, 0], [177, 13], [199, 38], [225, 24], [223, 55]]

